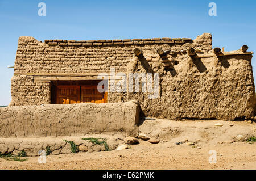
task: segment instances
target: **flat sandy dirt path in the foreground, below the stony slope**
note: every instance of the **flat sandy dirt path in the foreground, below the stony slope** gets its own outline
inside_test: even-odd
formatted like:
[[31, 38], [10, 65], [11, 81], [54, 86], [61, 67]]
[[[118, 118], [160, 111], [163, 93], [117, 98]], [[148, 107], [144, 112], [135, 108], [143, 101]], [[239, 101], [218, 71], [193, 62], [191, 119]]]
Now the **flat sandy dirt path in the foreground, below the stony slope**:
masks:
[[[217, 151], [216, 164], [209, 164], [209, 150]], [[121, 151], [49, 155], [45, 164], [39, 164], [38, 157], [28, 158], [24, 162], [0, 158], [0, 169], [256, 169], [256, 144], [188, 146], [143, 141]]]

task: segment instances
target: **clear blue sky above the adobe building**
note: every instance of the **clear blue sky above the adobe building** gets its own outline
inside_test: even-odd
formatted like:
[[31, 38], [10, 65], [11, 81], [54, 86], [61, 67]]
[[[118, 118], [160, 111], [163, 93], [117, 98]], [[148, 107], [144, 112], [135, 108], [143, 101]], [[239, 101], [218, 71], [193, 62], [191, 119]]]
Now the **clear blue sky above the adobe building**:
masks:
[[[38, 3], [46, 16], [38, 16]], [[210, 2], [217, 16], [209, 16]], [[256, 52], [256, 1], [11, 1], [0, 0], [0, 105], [11, 100], [11, 77], [19, 36], [38, 40], [191, 37], [212, 33], [213, 47]], [[256, 72], [253, 58], [254, 77]]]

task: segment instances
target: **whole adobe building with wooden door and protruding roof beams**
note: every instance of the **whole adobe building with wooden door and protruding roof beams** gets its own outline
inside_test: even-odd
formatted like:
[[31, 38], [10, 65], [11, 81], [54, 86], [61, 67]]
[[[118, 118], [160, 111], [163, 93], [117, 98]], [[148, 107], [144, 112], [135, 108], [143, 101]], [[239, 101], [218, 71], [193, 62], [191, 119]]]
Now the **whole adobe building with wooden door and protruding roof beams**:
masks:
[[[252, 54], [246, 46], [233, 52], [213, 50], [210, 33], [195, 40], [42, 42], [33, 37], [20, 37], [11, 79], [10, 106], [137, 100], [144, 115], [149, 117], [251, 119], [256, 111]], [[142, 86], [139, 92], [110, 91], [112, 70], [115, 75], [122, 73], [127, 77], [129, 73], [157, 73], [156, 98], [150, 98], [150, 92], [142, 92]], [[102, 81], [99, 74], [108, 85], [104, 92], [97, 90]], [[129, 86], [132, 85], [123, 88]]]

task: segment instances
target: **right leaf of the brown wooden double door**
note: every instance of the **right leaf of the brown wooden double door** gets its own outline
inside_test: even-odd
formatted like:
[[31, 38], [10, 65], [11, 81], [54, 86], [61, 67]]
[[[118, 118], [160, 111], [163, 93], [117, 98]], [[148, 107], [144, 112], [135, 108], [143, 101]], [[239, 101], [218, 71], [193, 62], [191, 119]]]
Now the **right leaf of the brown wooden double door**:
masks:
[[98, 92], [97, 86], [81, 86], [81, 103], [106, 103], [107, 92]]

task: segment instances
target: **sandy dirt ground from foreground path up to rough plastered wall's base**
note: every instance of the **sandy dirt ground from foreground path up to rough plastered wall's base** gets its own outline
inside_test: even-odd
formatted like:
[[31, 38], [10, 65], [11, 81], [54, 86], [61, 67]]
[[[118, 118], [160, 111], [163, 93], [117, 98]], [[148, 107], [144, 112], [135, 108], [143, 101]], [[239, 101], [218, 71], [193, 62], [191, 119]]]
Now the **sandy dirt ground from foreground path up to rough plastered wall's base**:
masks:
[[[38, 163], [39, 157], [27, 157], [24, 162], [0, 158], [0, 169], [256, 169], [256, 142], [230, 142], [240, 131], [254, 134], [256, 123], [235, 123], [230, 127], [229, 122], [223, 121], [223, 127], [215, 127], [215, 122], [175, 122], [189, 125], [192, 130], [175, 125], [181, 133], [170, 141], [151, 144], [139, 140], [138, 145], [129, 145], [126, 150], [49, 155], [42, 164]], [[213, 133], [214, 136], [209, 136]], [[175, 144], [187, 137], [193, 141], [201, 139], [195, 145]], [[210, 150], [216, 151], [217, 163], [209, 163]]]

